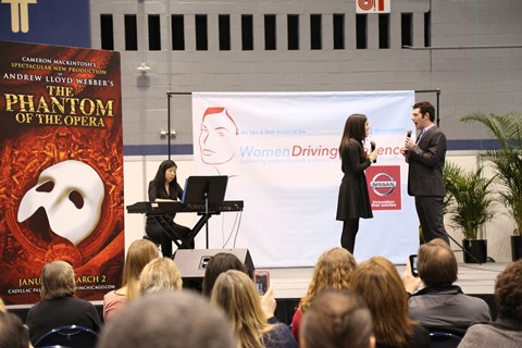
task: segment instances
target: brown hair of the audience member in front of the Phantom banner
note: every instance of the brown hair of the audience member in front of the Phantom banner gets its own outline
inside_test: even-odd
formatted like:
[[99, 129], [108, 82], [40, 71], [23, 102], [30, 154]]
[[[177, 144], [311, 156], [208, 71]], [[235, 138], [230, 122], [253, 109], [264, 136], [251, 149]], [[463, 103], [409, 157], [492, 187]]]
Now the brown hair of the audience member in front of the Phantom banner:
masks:
[[73, 296], [76, 286], [74, 277], [73, 266], [67, 262], [60, 260], [49, 262], [41, 270], [41, 299]]

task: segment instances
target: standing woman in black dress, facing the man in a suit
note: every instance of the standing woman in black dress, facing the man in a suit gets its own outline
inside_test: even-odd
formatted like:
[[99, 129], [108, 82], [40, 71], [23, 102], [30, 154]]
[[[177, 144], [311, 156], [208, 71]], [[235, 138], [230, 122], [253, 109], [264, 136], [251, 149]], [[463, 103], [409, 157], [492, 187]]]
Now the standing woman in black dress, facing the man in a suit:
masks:
[[341, 170], [345, 173], [339, 187], [337, 220], [343, 221], [340, 246], [351, 253], [359, 231], [359, 219], [373, 217], [368, 194], [364, 170], [377, 158], [377, 150], [369, 154], [364, 151], [364, 139], [370, 132], [368, 119], [362, 114], [352, 114], [346, 120], [345, 130], [339, 145]]

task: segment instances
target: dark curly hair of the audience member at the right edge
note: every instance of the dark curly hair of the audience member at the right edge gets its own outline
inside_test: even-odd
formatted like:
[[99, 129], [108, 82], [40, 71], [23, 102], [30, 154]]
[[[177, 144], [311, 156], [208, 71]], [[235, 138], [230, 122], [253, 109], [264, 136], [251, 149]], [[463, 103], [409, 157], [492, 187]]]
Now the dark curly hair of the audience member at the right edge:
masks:
[[497, 276], [495, 303], [500, 315], [522, 321], [522, 260], [508, 264]]

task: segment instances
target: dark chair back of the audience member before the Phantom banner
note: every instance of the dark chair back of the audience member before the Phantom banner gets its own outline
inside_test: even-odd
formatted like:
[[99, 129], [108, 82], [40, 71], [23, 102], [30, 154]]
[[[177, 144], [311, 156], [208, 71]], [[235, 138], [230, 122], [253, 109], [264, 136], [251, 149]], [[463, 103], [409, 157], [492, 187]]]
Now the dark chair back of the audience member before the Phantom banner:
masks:
[[51, 330], [41, 336], [35, 344], [35, 348], [44, 347], [69, 347], [69, 348], [95, 348], [98, 341], [98, 333], [79, 326], [69, 325]]

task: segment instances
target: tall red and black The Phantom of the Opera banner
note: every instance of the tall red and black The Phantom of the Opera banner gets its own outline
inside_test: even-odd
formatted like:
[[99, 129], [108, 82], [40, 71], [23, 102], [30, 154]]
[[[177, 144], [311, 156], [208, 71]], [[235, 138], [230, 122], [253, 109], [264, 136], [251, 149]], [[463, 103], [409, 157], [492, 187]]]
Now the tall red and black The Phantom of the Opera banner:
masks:
[[0, 41], [0, 297], [40, 300], [42, 266], [71, 263], [88, 300], [121, 285], [120, 54]]

